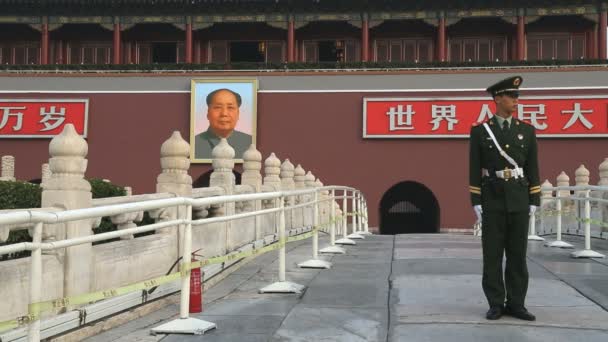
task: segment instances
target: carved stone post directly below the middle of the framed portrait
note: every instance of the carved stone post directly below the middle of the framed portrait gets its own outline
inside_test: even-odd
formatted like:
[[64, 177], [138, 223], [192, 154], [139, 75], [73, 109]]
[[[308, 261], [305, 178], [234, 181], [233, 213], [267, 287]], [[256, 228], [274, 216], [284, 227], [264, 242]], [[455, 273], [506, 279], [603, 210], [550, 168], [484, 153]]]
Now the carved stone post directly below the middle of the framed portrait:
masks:
[[[233, 195], [234, 188], [236, 186], [236, 180], [234, 178], [234, 148], [228, 144], [225, 138], [220, 140], [211, 151], [213, 158], [213, 172], [209, 179], [209, 186], [218, 186], [224, 189], [225, 195]], [[220, 215], [233, 215], [235, 213], [235, 203], [225, 203], [221, 205], [221, 210], [217, 210], [218, 206], [211, 206], [211, 209]], [[226, 227], [226, 251], [229, 251], [231, 246], [231, 228], [232, 223], [230, 221], [225, 223]]]

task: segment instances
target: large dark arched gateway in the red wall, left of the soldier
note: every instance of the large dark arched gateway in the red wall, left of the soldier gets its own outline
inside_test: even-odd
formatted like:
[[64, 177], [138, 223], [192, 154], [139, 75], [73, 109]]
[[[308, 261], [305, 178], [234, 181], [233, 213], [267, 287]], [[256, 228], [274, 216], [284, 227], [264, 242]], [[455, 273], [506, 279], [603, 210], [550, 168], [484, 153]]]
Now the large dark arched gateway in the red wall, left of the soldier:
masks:
[[380, 233], [439, 232], [439, 203], [426, 186], [412, 181], [393, 185], [380, 201]]

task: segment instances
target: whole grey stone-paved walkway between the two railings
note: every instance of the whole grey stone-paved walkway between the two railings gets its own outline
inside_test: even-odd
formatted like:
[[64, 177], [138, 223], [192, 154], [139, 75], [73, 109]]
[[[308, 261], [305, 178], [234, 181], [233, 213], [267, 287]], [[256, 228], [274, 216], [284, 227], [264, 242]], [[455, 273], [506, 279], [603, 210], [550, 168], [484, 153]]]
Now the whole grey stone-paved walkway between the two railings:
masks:
[[575, 260], [570, 250], [531, 242], [527, 307], [537, 321], [487, 321], [478, 238], [370, 236], [325, 258], [334, 266], [322, 271], [296, 267], [309, 258], [310, 241], [289, 249], [287, 277], [307, 286], [301, 296], [257, 293], [277, 278], [269, 253], [205, 293], [197, 317], [215, 322], [212, 332], [149, 335], [176, 316], [173, 305], [88, 341], [608, 341], [606, 260]]

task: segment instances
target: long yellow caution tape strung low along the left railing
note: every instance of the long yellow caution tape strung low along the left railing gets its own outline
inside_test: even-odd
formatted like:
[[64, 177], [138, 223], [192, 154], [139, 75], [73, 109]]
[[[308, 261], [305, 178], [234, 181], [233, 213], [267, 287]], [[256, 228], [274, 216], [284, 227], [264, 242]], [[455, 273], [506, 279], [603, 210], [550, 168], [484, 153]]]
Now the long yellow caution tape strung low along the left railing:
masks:
[[53, 299], [53, 300], [48, 300], [48, 301], [43, 301], [43, 302], [38, 302], [38, 303], [32, 303], [32, 304], [28, 305], [28, 312], [29, 312], [28, 315], [19, 317], [14, 320], [0, 322], [0, 332], [19, 328], [24, 325], [27, 325], [29, 322], [38, 319], [40, 314], [43, 312], [57, 310], [57, 309], [65, 308], [68, 306], [88, 304], [88, 303], [103, 300], [103, 299], [109, 299], [109, 298], [121, 296], [121, 295], [130, 293], [130, 292], [134, 292], [134, 291], [138, 291], [138, 290], [139, 291], [149, 290], [153, 287], [157, 287], [162, 284], [166, 284], [166, 283], [170, 283], [172, 281], [179, 280], [182, 277], [187, 276], [190, 273], [189, 271], [194, 268], [199, 268], [199, 267], [203, 267], [203, 266], [207, 266], [207, 265], [219, 264], [219, 263], [223, 263], [226, 261], [232, 261], [232, 260], [236, 260], [236, 259], [242, 259], [242, 258], [254, 256], [254, 255], [264, 254], [264, 253], [282, 248], [289, 242], [300, 241], [300, 240], [304, 240], [309, 237], [312, 237], [314, 234], [316, 234], [318, 232], [319, 228], [329, 226], [333, 222], [337, 222], [337, 221], [338, 220], [334, 218], [333, 220], [331, 220], [325, 224], [319, 225], [317, 227], [313, 227], [313, 229], [310, 232], [307, 232], [305, 234], [300, 234], [297, 236], [283, 238], [283, 239], [279, 240], [279, 242], [277, 242], [277, 243], [273, 243], [271, 245], [268, 245], [268, 246], [265, 246], [262, 248], [258, 248], [255, 250], [207, 258], [205, 260], [194, 261], [194, 262], [190, 262], [187, 264], [182, 263], [182, 264], [180, 264], [179, 272], [174, 272], [174, 273], [171, 273], [171, 274], [168, 274], [165, 276], [160, 276], [160, 277], [144, 280], [144, 281], [141, 281], [141, 282], [138, 282], [135, 284], [117, 287], [114, 289], [90, 292], [90, 293], [85, 293], [85, 294], [81, 294], [81, 295], [75, 295], [75, 296]]

